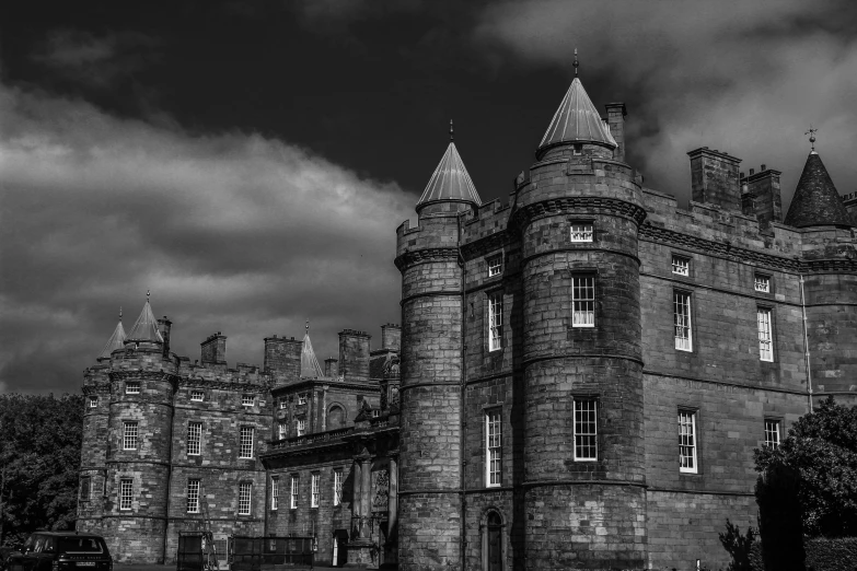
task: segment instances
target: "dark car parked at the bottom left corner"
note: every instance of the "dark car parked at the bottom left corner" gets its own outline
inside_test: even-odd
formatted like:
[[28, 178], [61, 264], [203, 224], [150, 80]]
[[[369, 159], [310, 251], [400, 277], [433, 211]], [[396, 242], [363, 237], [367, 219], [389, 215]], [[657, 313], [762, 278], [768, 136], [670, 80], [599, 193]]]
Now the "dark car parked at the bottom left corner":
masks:
[[113, 571], [104, 538], [77, 532], [36, 532], [21, 551], [10, 553], [4, 571]]

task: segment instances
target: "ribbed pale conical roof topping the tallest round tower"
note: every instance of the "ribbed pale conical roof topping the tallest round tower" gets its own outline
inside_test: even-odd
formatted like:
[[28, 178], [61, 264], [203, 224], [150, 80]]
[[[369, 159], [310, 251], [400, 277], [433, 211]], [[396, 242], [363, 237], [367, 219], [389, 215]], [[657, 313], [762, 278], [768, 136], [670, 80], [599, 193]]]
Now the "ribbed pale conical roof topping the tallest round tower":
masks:
[[594, 142], [612, 149], [617, 147], [616, 140], [610, 133], [610, 127], [601, 119], [601, 114], [587, 95], [579, 78], [571, 81], [536, 152], [568, 142]]

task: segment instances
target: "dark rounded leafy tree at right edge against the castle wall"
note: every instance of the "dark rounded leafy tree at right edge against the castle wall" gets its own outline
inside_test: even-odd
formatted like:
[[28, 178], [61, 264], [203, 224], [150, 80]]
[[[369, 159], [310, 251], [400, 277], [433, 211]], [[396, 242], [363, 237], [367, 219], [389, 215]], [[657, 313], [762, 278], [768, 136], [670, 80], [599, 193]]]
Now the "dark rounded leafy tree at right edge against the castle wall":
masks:
[[777, 450], [756, 450], [755, 461], [758, 471], [798, 470], [806, 535], [857, 536], [857, 408], [827, 398], [795, 423]]

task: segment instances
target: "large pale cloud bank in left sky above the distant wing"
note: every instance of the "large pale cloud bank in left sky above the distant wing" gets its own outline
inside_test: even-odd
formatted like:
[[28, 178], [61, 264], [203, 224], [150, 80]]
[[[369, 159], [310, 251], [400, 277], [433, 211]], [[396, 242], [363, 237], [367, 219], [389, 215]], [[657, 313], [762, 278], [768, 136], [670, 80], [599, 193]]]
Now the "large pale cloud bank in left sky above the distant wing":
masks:
[[198, 359], [207, 335], [260, 364], [263, 337], [398, 322], [395, 225], [415, 197], [258, 135], [194, 137], [0, 88], [0, 389], [76, 391], [119, 305], [147, 288]]

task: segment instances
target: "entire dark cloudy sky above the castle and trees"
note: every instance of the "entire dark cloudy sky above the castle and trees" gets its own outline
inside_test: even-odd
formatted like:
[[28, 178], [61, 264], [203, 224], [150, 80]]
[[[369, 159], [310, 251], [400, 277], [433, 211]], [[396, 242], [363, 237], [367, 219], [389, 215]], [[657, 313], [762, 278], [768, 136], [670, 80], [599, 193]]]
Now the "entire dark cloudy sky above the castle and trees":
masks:
[[857, 190], [857, 3], [84, 1], [0, 9], [0, 391], [77, 391], [152, 290], [190, 359], [398, 322], [395, 228], [447, 144], [506, 200], [572, 77], [686, 203], [702, 145]]

